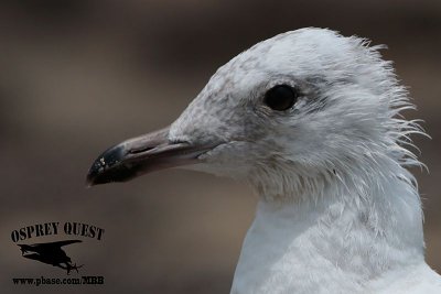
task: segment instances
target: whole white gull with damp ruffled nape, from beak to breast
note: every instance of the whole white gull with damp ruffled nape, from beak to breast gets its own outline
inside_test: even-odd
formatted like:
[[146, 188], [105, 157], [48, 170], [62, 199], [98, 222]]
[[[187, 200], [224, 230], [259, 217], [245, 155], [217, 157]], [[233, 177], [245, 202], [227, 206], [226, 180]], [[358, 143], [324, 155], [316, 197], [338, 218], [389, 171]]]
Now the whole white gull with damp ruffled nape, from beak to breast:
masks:
[[228, 176], [259, 197], [232, 294], [441, 293], [407, 170], [424, 134], [390, 62], [357, 36], [305, 28], [222, 66], [169, 127], [123, 141], [89, 185], [165, 167]]

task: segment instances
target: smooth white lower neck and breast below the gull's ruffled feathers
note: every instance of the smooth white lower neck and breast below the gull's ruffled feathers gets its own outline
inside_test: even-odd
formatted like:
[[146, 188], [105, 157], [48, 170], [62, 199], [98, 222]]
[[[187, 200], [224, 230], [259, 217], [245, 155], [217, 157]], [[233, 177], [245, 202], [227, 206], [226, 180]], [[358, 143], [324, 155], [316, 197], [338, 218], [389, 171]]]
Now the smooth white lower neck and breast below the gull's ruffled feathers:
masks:
[[441, 293], [422, 247], [401, 243], [400, 233], [412, 231], [389, 222], [379, 232], [364, 217], [356, 204], [338, 198], [318, 205], [260, 202], [232, 294]]

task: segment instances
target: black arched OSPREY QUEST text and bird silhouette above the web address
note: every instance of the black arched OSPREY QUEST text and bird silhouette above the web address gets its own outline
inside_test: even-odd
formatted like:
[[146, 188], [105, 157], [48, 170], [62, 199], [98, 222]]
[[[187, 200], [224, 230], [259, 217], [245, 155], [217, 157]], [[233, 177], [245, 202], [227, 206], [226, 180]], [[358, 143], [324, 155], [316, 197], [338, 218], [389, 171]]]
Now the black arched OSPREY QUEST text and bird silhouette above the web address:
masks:
[[[100, 241], [105, 230], [103, 228], [66, 221], [45, 222], [22, 227], [11, 232], [12, 241], [20, 248], [21, 254], [25, 259], [40, 261], [60, 268], [69, 274], [72, 271], [78, 272], [84, 264], [77, 265], [68, 254], [67, 246], [80, 243], [84, 238]], [[53, 237], [64, 236], [64, 240], [52, 241]], [[31, 241], [37, 237], [39, 241]], [[40, 238], [51, 237], [52, 242], [42, 242]], [[82, 238], [79, 238], [82, 237]]]

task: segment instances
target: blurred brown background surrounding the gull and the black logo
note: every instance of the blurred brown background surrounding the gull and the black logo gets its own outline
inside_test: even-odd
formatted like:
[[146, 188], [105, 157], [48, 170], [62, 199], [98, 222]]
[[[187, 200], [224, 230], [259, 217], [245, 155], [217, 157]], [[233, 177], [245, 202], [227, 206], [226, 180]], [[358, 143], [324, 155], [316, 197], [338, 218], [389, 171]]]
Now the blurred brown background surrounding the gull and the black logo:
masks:
[[[240, 183], [164, 171], [85, 188], [104, 149], [172, 122], [214, 70], [250, 45], [302, 26], [387, 44], [432, 140], [415, 138], [430, 174], [428, 261], [441, 271], [441, 1], [0, 2], [0, 292], [228, 293], [256, 197]], [[60, 276], [20, 257], [12, 230], [46, 221], [106, 229], [66, 247], [104, 286], [14, 286]], [[33, 238], [30, 242], [46, 241]]]

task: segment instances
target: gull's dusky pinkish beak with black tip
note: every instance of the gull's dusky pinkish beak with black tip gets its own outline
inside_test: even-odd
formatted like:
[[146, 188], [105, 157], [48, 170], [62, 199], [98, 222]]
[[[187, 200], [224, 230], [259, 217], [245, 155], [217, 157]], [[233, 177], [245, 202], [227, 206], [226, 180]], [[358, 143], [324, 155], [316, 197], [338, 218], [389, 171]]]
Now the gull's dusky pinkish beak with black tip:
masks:
[[169, 128], [129, 139], [109, 148], [92, 165], [89, 186], [126, 182], [142, 174], [180, 165], [196, 164], [213, 145], [170, 142]]

